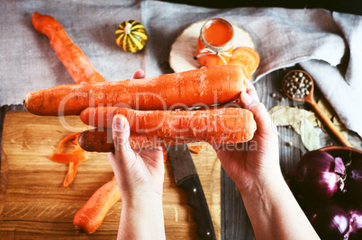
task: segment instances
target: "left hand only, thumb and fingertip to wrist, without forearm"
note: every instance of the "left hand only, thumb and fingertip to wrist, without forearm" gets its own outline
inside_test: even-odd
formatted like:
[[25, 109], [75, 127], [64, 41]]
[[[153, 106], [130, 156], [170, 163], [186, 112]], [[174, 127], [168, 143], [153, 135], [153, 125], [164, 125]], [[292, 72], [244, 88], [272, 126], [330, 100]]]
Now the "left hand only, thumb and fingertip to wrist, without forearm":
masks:
[[[132, 78], [143, 78], [143, 70], [136, 71]], [[133, 151], [128, 139], [130, 126], [125, 117], [113, 117], [114, 152], [108, 153], [114, 175], [121, 189], [122, 200], [156, 194], [162, 196], [164, 163], [161, 147]]]

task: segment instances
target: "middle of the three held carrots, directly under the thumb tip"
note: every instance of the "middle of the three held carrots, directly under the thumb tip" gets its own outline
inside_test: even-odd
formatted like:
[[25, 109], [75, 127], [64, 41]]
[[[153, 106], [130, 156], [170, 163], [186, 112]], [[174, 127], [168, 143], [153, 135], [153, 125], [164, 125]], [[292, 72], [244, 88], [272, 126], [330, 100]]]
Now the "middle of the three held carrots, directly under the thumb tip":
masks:
[[96, 107], [82, 111], [80, 119], [95, 127], [110, 128], [116, 114], [127, 118], [131, 132], [209, 143], [246, 142], [256, 130], [252, 112], [236, 107], [192, 111], [136, 111]]

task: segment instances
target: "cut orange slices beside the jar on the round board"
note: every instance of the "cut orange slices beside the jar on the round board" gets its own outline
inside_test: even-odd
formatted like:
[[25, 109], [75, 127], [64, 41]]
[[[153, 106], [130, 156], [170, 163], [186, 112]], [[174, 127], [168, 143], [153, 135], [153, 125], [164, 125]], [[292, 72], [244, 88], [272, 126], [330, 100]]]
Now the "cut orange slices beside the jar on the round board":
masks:
[[242, 68], [244, 75], [250, 79], [254, 71], [258, 68], [260, 56], [256, 49], [248, 47], [239, 47], [232, 51], [229, 65]]

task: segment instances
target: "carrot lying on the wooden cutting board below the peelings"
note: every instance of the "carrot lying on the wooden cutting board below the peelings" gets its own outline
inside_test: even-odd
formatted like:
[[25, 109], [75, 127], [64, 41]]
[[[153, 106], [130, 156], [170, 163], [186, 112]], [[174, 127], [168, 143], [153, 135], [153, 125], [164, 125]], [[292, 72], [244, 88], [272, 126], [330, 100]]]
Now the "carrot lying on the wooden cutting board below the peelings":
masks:
[[113, 205], [121, 199], [117, 182], [113, 180], [105, 183], [86, 201], [86, 204], [77, 211], [73, 224], [77, 229], [92, 234], [101, 226], [105, 215]]

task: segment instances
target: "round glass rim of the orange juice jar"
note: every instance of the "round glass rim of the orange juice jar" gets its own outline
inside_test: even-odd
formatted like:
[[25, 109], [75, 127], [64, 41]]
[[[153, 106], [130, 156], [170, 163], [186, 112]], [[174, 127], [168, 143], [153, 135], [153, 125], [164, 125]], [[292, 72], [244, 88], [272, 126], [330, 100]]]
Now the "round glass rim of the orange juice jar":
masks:
[[[213, 44], [211, 44], [209, 41], [207, 41], [204, 37], [204, 31], [213, 23], [213, 22], [222, 22], [224, 23], [227, 27], [229, 27], [229, 29], [231, 30], [231, 40], [229, 40], [228, 42], [226, 42], [223, 45], [220, 46], [215, 46]], [[230, 49], [232, 44], [233, 44], [233, 40], [234, 40], [234, 28], [232, 27], [231, 23], [226, 21], [223, 18], [213, 18], [210, 20], [207, 20], [206, 22], [204, 22], [203, 27], [200, 30], [200, 39], [203, 42], [204, 46], [208, 49], [213, 49], [214, 51], [222, 51], [225, 49]]]

